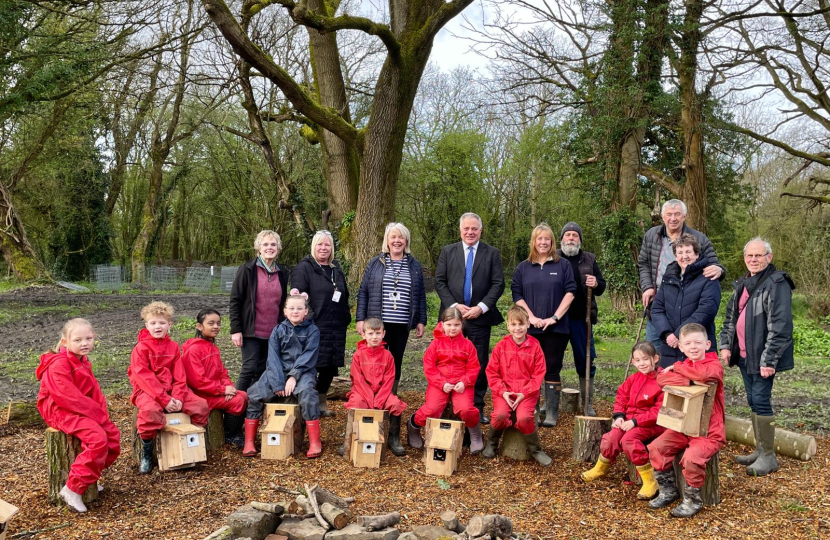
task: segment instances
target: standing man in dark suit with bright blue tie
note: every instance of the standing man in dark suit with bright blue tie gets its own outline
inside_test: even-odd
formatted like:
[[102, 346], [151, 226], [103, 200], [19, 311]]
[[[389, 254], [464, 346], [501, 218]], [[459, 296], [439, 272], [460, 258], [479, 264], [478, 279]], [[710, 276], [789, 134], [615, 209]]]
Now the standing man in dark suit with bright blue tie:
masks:
[[489, 424], [484, 414], [490, 359], [490, 329], [504, 321], [496, 302], [504, 292], [501, 254], [481, 241], [482, 222], [468, 212], [460, 220], [461, 242], [444, 246], [435, 269], [435, 292], [441, 299], [441, 312], [456, 307], [464, 316], [464, 336], [473, 342], [481, 371], [475, 387], [475, 406], [481, 423]]

